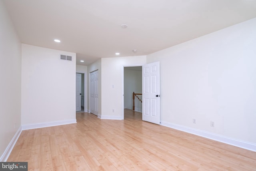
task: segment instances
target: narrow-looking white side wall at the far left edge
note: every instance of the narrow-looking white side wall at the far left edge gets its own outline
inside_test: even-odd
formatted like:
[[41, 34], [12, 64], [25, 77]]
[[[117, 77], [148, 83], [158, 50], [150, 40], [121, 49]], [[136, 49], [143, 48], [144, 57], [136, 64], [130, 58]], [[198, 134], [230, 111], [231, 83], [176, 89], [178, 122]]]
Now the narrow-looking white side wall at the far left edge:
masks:
[[[0, 1], [0, 161], [21, 122], [21, 44]], [[16, 123], [16, 127], [15, 127]]]

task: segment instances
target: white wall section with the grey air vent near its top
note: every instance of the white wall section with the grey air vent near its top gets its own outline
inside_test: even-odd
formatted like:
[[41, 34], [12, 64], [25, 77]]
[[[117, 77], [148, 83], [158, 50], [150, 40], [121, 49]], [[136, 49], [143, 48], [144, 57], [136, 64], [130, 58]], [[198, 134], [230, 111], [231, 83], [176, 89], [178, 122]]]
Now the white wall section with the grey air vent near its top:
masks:
[[22, 44], [22, 125], [76, 121], [75, 96], [75, 53]]

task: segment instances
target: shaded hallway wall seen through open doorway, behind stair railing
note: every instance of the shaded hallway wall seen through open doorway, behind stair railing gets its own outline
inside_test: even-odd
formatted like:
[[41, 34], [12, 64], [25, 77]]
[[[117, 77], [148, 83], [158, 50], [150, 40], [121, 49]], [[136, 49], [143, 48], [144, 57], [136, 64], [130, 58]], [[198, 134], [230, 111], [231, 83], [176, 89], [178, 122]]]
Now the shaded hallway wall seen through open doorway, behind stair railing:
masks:
[[132, 93], [142, 93], [142, 71], [124, 68], [124, 108], [133, 106]]

